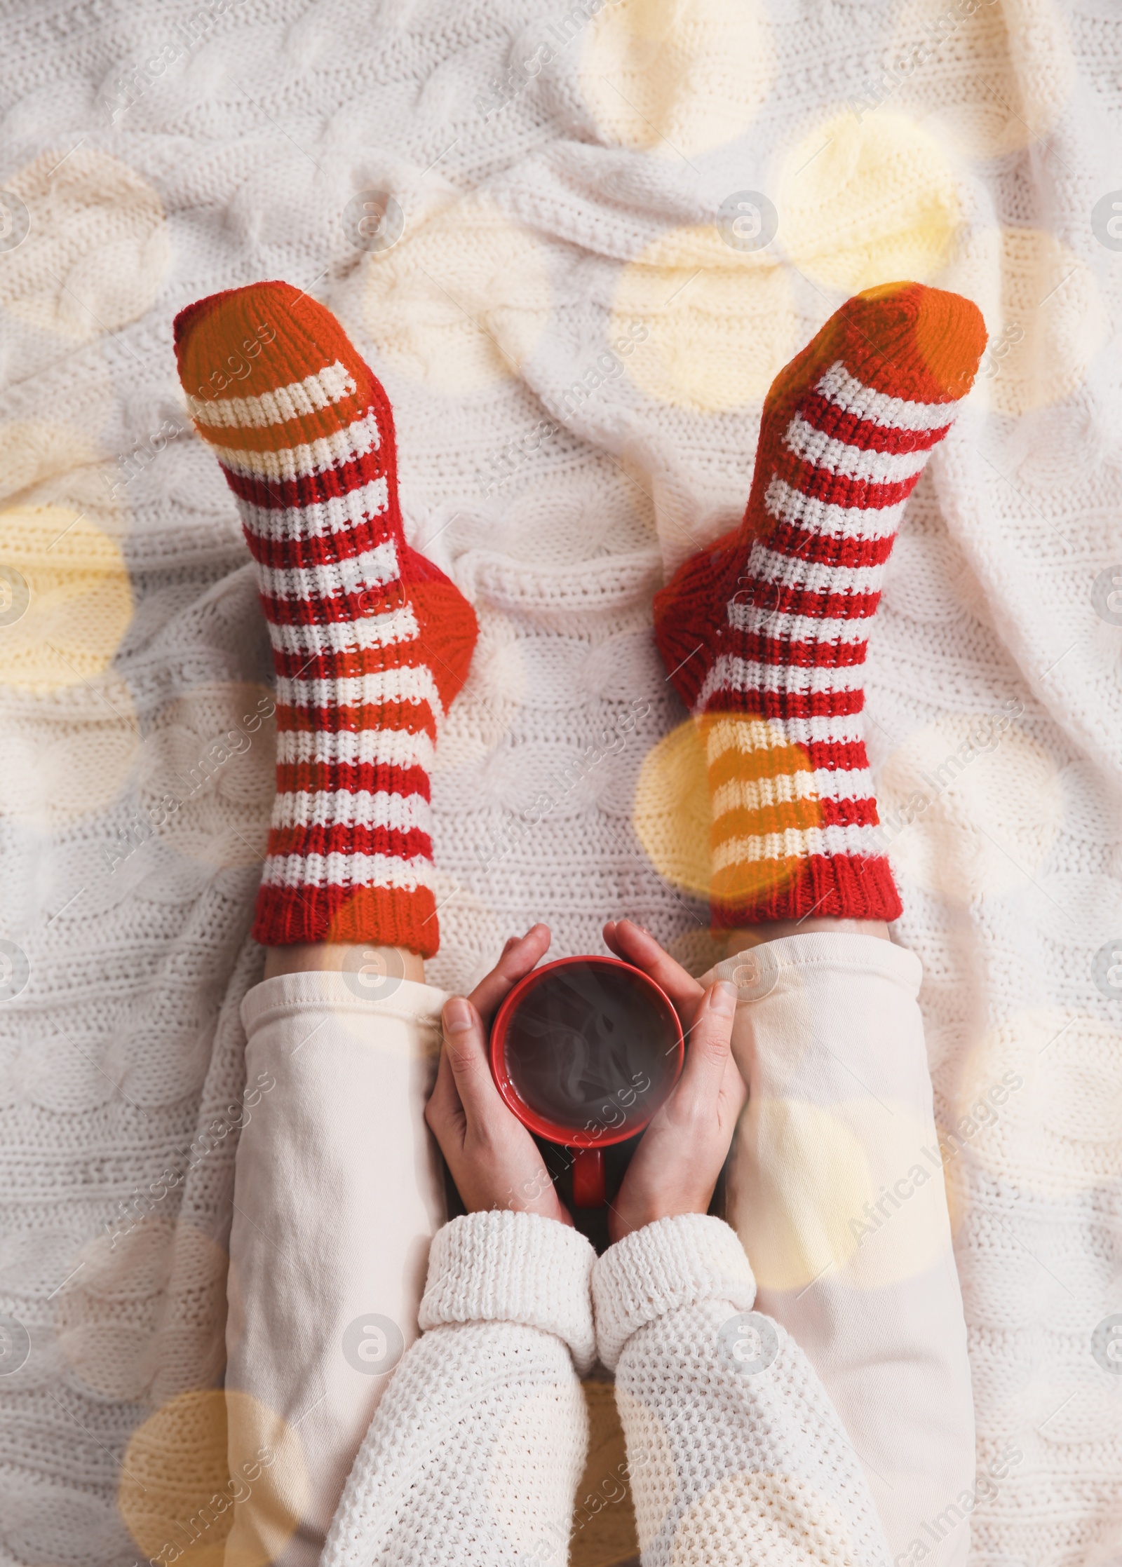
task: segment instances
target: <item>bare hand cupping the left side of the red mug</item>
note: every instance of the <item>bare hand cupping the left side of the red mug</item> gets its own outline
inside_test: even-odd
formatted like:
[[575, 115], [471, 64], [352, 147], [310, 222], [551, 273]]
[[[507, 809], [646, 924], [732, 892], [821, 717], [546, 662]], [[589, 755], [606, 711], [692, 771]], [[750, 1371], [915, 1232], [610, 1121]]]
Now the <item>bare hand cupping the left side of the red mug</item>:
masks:
[[443, 1050], [425, 1120], [469, 1213], [509, 1208], [572, 1224], [534, 1139], [503, 1103], [490, 1075], [487, 1030], [508, 992], [545, 956], [550, 932], [511, 937], [469, 998], [443, 1008]]

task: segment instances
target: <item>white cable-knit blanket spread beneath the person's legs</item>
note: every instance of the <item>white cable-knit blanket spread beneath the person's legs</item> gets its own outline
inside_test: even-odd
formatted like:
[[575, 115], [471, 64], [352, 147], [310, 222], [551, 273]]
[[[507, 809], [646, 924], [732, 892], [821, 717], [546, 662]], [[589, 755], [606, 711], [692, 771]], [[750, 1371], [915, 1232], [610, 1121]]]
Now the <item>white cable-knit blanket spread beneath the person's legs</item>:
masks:
[[447, 987], [536, 918], [561, 954], [630, 914], [705, 968], [650, 595], [738, 520], [763, 393], [849, 293], [983, 307], [868, 744], [979, 1464], [1023, 1454], [975, 1559], [1117, 1561], [1117, 6], [38, 0], [0, 58], [0, 1561], [124, 1567], [219, 1484], [271, 671], [171, 321], [262, 277], [384, 379], [411, 539], [480, 616], [434, 777]]

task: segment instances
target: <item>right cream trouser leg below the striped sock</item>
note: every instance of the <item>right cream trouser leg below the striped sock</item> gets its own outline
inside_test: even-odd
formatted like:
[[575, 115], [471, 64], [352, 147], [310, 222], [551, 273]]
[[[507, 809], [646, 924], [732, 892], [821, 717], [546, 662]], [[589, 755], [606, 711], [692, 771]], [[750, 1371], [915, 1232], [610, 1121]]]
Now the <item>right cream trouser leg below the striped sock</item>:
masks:
[[[738, 984], [749, 1086], [726, 1218], [757, 1307], [802, 1346], [849, 1432], [892, 1554], [965, 1561], [975, 1429], [914, 953], [821, 921], [754, 942]], [[752, 932], [755, 935], [755, 932]]]

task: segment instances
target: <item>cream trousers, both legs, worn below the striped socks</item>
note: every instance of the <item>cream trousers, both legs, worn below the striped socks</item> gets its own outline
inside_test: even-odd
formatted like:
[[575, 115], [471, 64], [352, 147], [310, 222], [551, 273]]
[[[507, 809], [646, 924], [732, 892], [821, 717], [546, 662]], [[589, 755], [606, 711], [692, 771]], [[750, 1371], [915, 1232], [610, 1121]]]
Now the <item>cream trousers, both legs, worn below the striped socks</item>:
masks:
[[[973, 1492], [973, 1406], [920, 972], [890, 942], [813, 932], [727, 959], [705, 983], [740, 990], [733, 1050], [749, 1102], [726, 1218], [757, 1277], [755, 1308], [784, 1323], [826, 1385], [892, 1554], [921, 1540], [931, 1567], [959, 1567], [968, 1523], [945, 1509]], [[317, 1561], [417, 1337], [445, 1218], [423, 1120], [445, 993], [382, 989], [365, 1000], [343, 975], [288, 975], [243, 1003], [248, 1080], [276, 1086], [237, 1155], [226, 1385], [244, 1484], [230, 1567]]]

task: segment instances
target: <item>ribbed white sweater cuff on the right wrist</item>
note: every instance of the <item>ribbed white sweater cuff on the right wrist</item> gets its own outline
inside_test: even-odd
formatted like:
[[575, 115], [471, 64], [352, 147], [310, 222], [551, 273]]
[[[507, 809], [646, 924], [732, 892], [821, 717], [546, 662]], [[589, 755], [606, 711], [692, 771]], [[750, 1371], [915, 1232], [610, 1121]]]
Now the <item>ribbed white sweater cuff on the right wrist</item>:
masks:
[[616, 1241], [592, 1269], [600, 1360], [610, 1371], [636, 1329], [697, 1301], [729, 1301], [751, 1312], [755, 1277], [724, 1219], [683, 1213]]

